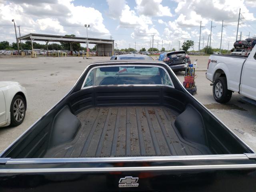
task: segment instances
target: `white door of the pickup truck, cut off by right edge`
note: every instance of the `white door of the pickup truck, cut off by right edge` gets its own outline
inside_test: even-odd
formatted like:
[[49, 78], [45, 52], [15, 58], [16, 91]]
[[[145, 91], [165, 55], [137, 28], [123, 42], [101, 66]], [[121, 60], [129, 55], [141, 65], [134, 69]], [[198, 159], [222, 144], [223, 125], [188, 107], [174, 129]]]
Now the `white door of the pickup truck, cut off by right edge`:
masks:
[[256, 59], [248, 56], [242, 69], [240, 94], [256, 100]]

